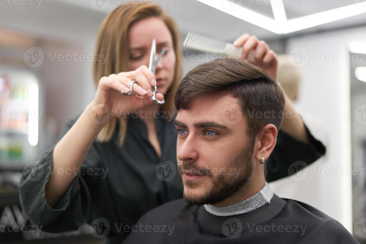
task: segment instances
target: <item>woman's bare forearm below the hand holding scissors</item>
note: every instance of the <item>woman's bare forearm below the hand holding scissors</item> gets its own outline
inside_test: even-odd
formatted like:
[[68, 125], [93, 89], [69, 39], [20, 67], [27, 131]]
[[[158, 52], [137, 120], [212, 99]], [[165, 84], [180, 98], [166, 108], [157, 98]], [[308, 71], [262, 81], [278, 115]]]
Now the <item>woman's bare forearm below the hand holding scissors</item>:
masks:
[[[93, 119], [94, 112], [90, 112], [93, 106], [94, 104], [91, 103], [85, 108], [75, 124], [53, 149], [51, 174], [45, 188], [45, 197], [51, 207], [56, 206], [70, 187], [90, 146], [105, 125], [93, 122], [96, 121]], [[66, 172], [71, 173], [66, 174]]]

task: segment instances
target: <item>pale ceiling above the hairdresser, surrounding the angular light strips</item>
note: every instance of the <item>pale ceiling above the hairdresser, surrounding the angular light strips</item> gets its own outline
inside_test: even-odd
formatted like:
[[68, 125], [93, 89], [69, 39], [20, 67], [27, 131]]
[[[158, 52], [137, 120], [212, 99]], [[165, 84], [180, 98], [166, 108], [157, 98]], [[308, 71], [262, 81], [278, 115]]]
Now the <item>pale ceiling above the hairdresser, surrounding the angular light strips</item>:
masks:
[[[38, 0], [39, 1], [39, 0]], [[93, 40], [96, 38], [102, 19], [121, 1], [109, 1], [109, 7], [97, 11], [91, 7], [96, 0], [43, 0], [38, 8], [35, 5], [1, 5], [0, 27], [26, 31], [42, 37], [66, 40]], [[242, 33], [257, 35], [265, 40], [277, 40], [314, 31], [342, 28], [353, 25], [366, 25], [366, 15], [361, 14], [321, 26], [297, 31], [287, 35], [272, 33], [244, 20], [216, 10], [197, 0], [150, 0], [166, 3], [162, 7], [178, 22], [182, 34], [194, 31], [221, 40], [233, 41]], [[273, 18], [269, 0], [236, 0], [260, 14]], [[277, 0], [280, 1], [280, 0]], [[283, 0], [288, 19], [297, 18], [349, 5], [365, 0]], [[34, 0], [36, 2], [36, 0]], [[172, 3], [171, 6], [168, 6]], [[291, 4], [288, 4], [291, 3]], [[366, 5], [366, 3], [365, 3]]]

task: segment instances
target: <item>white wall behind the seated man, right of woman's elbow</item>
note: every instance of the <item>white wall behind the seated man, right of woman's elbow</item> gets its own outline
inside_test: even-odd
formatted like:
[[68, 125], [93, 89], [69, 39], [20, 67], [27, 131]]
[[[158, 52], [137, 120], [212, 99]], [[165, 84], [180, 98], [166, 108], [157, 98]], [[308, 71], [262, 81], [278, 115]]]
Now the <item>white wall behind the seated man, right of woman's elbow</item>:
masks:
[[[310, 165], [305, 180], [296, 182], [287, 178], [270, 184], [277, 195], [309, 203], [350, 231], [353, 228], [352, 178], [346, 173], [338, 173], [337, 168], [352, 168], [349, 62], [343, 60], [344, 55], [348, 55], [349, 42], [364, 40], [366, 27], [317, 33], [288, 41], [287, 53], [294, 48], [297, 48], [295, 53], [299, 50], [308, 52], [309, 61], [302, 67], [298, 109], [307, 112], [305, 122], [309, 121], [307, 125], [314, 136], [325, 140], [327, 155]], [[317, 60], [319, 55], [333, 55], [336, 60]], [[319, 173], [319, 170], [337, 171], [331, 174]], [[302, 173], [306, 174], [306, 171]]]

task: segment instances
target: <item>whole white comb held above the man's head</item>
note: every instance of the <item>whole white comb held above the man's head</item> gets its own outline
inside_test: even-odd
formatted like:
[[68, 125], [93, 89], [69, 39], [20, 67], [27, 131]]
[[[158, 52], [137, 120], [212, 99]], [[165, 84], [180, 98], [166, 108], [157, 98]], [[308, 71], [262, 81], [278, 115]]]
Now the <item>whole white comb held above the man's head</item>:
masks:
[[[240, 58], [243, 48], [238, 48], [229, 42], [216, 40], [214, 38], [205, 37], [196, 33], [188, 33], [183, 46], [185, 48], [194, 49], [202, 52], [225, 54]], [[247, 60], [254, 61], [254, 50], [249, 52]]]

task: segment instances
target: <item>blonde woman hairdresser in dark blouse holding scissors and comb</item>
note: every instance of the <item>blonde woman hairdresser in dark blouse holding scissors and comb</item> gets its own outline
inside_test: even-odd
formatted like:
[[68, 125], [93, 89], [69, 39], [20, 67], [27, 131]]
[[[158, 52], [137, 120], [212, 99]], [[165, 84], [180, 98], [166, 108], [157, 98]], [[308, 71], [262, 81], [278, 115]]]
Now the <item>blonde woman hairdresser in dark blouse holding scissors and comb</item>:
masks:
[[[153, 39], [157, 51], [168, 50], [155, 75], [147, 68]], [[173, 19], [157, 5], [121, 5], [105, 18], [96, 53], [108, 55], [108, 60], [94, 63], [94, 100], [67, 123], [59, 141], [20, 182], [22, 207], [34, 224], [65, 232], [102, 218], [109, 226], [105, 243], [121, 243], [130, 231], [124, 226], [182, 197], [172, 123], [174, 92], [182, 75], [179, 39]], [[243, 46], [241, 59], [255, 50], [254, 64], [276, 76], [276, 55], [265, 42], [244, 34], [235, 45]], [[122, 95], [132, 80], [137, 94]], [[155, 85], [164, 105], [150, 100]], [[286, 111], [294, 111], [288, 99]], [[288, 176], [295, 161], [310, 164], [325, 153], [296, 116], [284, 118], [277, 141], [266, 162], [267, 181]], [[42, 173], [37, 176], [34, 170]], [[168, 174], [172, 177], [164, 178]]]

